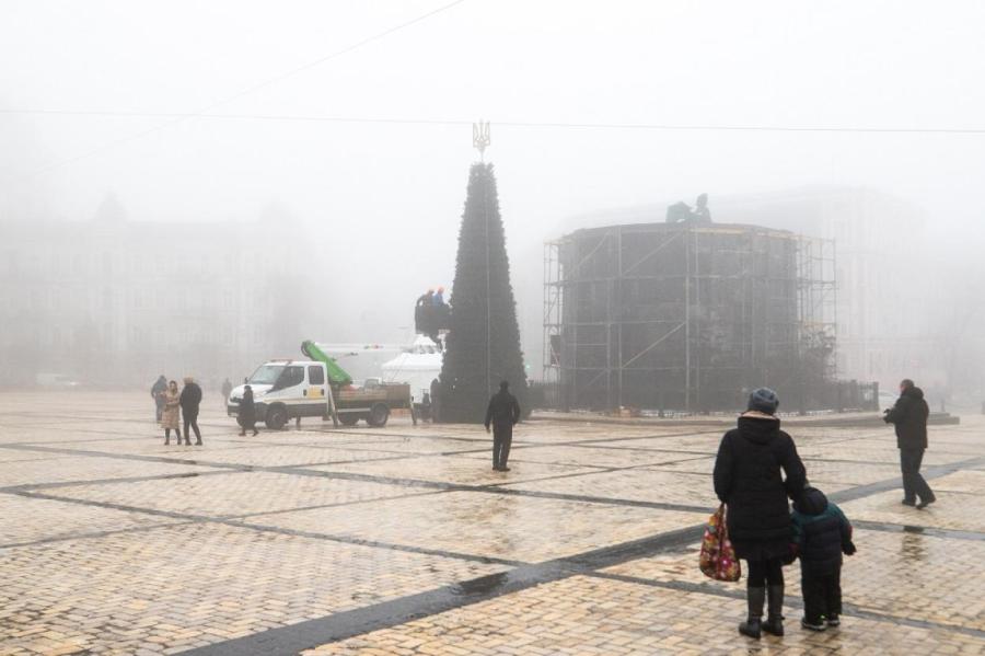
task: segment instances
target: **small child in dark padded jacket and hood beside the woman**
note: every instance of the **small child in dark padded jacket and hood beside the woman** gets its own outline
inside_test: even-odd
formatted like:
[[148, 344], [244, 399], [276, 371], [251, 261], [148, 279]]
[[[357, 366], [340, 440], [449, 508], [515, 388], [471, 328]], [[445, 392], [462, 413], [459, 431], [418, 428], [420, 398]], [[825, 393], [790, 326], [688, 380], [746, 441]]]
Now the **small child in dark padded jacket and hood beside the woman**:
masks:
[[806, 487], [795, 499], [791, 520], [803, 594], [800, 625], [811, 631], [837, 626], [842, 614], [842, 554], [855, 553], [851, 525], [842, 509], [814, 487]]

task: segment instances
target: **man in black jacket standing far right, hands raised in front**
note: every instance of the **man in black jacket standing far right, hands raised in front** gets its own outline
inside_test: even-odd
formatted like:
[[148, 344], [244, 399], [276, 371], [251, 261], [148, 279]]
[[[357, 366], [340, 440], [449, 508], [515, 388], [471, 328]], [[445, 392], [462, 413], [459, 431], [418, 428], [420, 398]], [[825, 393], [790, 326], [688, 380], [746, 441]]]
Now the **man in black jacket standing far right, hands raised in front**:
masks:
[[[937, 500], [927, 481], [920, 475], [924, 451], [927, 450], [927, 416], [930, 408], [924, 400], [924, 391], [912, 380], [900, 383], [900, 398], [883, 419], [896, 429], [896, 447], [900, 449], [900, 469], [903, 471], [903, 504], [926, 508]], [[919, 497], [919, 503], [917, 503]]]

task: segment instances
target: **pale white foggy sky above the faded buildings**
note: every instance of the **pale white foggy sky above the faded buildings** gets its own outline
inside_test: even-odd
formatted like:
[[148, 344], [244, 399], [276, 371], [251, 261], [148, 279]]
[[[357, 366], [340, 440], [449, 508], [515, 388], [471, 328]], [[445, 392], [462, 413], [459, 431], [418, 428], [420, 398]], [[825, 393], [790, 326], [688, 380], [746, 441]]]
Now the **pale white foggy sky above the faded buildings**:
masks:
[[[445, 3], [7, 1], [0, 110], [196, 113]], [[535, 325], [541, 244], [568, 217], [702, 192], [714, 211], [716, 195], [876, 188], [928, 211], [929, 249], [971, 262], [985, 134], [501, 124], [982, 129], [983, 19], [976, 1], [467, 0], [212, 113], [491, 120], [513, 285], [535, 290], [521, 325]], [[398, 338], [414, 298], [451, 283], [467, 125], [199, 117], [107, 147], [167, 123], [0, 114], [0, 217], [84, 220], [111, 192], [131, 220], [287, 208], [337, 244], [339, 313], [368, 318], [323, 341]]]

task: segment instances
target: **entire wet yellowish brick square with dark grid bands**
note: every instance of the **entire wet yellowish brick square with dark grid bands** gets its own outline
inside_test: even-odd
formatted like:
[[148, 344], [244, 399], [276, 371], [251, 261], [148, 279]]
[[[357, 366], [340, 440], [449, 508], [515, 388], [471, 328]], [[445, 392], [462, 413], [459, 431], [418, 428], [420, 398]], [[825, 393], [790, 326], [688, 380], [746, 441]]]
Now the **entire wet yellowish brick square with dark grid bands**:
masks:
[[931, 427], [923, 511], [889, 428], [790, 428], [859, 553], [839, 629], [799, 629], [792, 566], [753, 643], [697, 568], [718, 428], [532, 422], [500, 473], [480, 427], [241, 438], [208, 400], [165, 447], [148, 401], [0, 394], [0, 654], [985, 653], [980, 416]]

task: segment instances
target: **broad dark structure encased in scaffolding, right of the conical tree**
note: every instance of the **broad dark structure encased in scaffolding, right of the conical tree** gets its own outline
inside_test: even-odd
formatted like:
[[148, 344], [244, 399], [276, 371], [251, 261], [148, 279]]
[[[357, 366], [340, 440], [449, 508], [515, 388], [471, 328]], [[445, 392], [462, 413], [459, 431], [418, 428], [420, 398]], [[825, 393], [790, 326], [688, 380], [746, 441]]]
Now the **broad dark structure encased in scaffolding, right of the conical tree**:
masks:
[[733, 410], [833, 381], [831, 240], [721, 223], [579, 230], [544, 252], [544, 379], [563, 408]]

